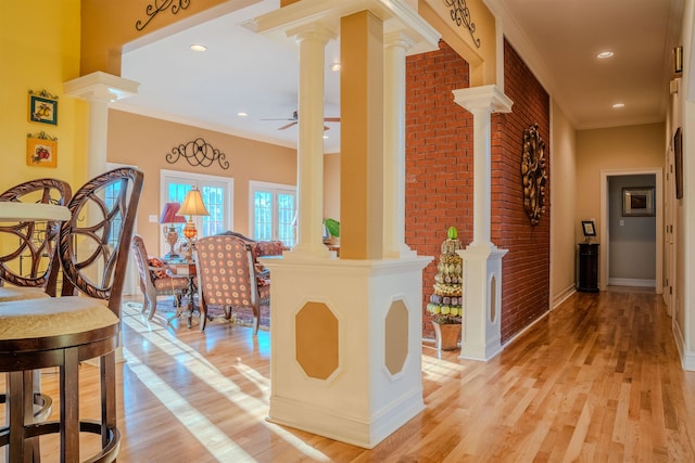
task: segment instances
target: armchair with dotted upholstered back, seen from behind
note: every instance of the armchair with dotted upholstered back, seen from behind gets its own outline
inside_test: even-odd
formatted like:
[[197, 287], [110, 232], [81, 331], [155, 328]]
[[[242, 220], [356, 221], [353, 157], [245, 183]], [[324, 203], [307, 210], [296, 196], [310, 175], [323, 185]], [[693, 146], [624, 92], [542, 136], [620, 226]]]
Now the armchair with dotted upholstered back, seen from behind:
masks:
[[251, 307], [253, 334], [258, 333], [261, 300], [269, 299], [269, 284], [260, 285], [262, 274], [256, 272], [251, 245], [242, 237], [214, 235], [198, 240], [198, 294], [200, 300], [200, 329], [205, 329], [207, 306], [223, 306], [226, 318], [232, 307]]

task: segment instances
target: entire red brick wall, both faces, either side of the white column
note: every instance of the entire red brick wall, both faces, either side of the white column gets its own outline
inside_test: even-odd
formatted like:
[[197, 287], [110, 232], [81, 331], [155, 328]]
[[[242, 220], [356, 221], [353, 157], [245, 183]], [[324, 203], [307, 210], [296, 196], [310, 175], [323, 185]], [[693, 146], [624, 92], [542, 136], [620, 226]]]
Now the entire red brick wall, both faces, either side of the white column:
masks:
[[[549, 179], [546, 213], [532, 227], [523, 210], [523, 130], [540, 125], [548, 143], [549, 100], [505, 41], [505, 93], [513, 113], [492, 119], [492, 241], [503, 259], [502, 338], [521, 331], [548, 308]], [[422, 335], [433, 337], [425, 306], [432, 294], [440, 245], [450, 226], [464, 247], [472, 241], [472, 116], [454, 103], [452, 90], [468, 88], [468, 63], [445, 42], [406, 63], [405, 241], [433, 256], [422, 274]], [[549, 171], [549, 150], [546, 149]]]

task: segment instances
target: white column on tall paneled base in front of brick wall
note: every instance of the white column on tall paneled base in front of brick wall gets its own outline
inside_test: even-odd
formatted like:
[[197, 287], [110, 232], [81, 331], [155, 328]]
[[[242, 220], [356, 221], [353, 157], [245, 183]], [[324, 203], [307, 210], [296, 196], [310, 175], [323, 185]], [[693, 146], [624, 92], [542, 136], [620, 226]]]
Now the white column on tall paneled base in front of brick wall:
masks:
[[454, 101], [473, 115], [473, 241], [464, 259], [464, 319], [459, 358], [490, 360], [502, 350], [502, 258], [490, 240], [491, 115], [511, 111], [496, 86], [454, 90]]

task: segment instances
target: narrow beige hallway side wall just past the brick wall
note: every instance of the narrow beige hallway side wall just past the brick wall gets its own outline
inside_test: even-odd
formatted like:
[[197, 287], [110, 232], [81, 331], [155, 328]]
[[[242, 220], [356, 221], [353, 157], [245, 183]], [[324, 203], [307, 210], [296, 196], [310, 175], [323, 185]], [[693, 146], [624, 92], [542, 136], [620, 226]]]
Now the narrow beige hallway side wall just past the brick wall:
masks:
[[561, 303], [574, 291], [576, 136], [559, 106], [551, 107], [551, 304]]

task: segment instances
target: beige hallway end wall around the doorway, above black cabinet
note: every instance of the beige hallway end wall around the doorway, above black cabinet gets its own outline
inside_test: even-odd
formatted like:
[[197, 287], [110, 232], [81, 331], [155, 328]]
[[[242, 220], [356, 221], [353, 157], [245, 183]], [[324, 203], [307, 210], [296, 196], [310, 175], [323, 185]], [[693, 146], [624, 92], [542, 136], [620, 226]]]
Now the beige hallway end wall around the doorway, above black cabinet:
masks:
[[[594, 218], [599, 233], [601, 172], [662, 167], [665, 130], [664, 123], [658, 123], [577, 132], [574, 240], [583, 240], [581, 220]], [[602, 242], [602, 236], [596, 240]]]

